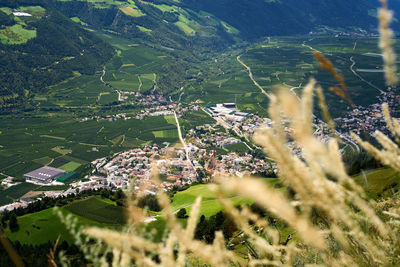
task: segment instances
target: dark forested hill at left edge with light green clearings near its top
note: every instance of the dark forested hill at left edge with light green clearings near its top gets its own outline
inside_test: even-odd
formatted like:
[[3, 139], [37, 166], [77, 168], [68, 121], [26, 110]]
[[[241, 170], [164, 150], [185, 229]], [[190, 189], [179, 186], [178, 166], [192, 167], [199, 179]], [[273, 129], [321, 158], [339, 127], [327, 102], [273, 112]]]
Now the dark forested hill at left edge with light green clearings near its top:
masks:
[[[74, 75], [92, 74], [114, 53], [94, 34], [37, 2], [0, 4], [1, 108]], [[31, 16], [14, 16], [13, 10]]]

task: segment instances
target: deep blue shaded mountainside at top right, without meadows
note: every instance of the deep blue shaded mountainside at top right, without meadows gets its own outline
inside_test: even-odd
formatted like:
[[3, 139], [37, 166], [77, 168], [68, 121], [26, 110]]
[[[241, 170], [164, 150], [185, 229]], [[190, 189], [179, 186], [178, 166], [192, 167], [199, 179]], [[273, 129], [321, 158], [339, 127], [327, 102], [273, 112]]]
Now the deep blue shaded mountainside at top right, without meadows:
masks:
[[182, 0], [184, 6], [205, 10], [240, 30], [244, 38], [307, 33], [318, 26], [373, 29], [367, 0]]

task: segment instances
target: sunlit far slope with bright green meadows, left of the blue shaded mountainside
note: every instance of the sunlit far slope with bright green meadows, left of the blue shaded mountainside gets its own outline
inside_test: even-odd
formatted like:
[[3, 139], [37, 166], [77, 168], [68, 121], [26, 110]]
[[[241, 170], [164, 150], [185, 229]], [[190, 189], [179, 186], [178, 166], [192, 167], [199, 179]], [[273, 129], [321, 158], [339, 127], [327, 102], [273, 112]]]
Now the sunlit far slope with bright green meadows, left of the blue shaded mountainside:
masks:
[[212, 14], [176, 1], [53, 0], [53, 4], [82, 25], [178, 49], [226, 47], [238, 33]]

